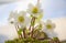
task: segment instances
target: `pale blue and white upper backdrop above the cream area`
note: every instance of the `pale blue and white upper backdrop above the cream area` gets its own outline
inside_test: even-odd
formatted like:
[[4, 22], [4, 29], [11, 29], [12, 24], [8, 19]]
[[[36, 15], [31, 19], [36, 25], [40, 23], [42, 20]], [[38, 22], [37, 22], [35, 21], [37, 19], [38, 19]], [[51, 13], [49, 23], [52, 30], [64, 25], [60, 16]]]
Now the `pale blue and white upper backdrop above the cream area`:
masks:
[[[19, 1], [13, 3], [7, 3], [0, 6], [0, 23], [6, 23], [7, 19], [11, 11], [13, 10], [25, 10], [28, 8], [28, 3], [33, 2], [36, 3], [36, 0], [31, 1]], [[42, 8], [44, 10], [44, 18], [66, 18], [66, 0], [42, 0]]]

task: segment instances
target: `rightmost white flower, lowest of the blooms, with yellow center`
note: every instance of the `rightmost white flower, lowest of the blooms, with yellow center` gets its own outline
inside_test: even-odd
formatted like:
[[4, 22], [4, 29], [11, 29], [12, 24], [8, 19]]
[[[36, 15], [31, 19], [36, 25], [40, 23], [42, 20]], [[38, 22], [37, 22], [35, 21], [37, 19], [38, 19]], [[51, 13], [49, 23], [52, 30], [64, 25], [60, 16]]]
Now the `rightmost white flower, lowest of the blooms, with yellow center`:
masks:
[[44, 23], [44, 32], [48, 35], [48, 37], [56, 37], [56, 33], [54, 32], [55, 24], [52, 23], [51, 20], [47, 20], [46, 23]]

